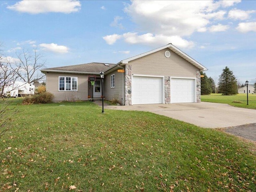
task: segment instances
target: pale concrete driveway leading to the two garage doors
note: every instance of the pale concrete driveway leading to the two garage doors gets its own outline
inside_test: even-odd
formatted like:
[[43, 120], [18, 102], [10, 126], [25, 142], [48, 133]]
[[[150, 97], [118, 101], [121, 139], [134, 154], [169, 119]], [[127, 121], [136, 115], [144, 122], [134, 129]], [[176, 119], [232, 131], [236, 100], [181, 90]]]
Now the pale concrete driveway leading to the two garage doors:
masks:
[[220, 103], [144, 104], [133, 106], [105, 106], [114, 110], [148, 111], [204, 128], [226, 128], [256, 123], [256, 110]]

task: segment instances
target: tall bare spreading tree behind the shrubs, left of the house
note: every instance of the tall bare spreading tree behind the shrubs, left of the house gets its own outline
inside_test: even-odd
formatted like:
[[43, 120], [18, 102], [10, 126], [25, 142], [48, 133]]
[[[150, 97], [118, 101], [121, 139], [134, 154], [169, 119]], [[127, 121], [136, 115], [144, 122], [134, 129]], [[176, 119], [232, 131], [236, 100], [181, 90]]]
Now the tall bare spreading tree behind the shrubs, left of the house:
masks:
[[22, 50], [19, 54], [16, 53], [19, 63], [15, 63], [17, 70], [15, 71], [24, 82], [33, 83], [44, 79], [44, 74], [40, 73], [39, 69], [45, 66], [43, 55], [38, 54], [36, 49], [31, 53], [28, 50]]

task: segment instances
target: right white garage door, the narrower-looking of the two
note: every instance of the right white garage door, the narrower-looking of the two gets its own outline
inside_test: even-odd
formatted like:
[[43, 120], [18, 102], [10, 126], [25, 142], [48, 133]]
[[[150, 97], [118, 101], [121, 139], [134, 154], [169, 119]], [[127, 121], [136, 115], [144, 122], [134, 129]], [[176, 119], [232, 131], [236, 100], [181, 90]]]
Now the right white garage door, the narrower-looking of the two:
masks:
[[171, 103], [193, 103], [195, 97], [194, 79], [171, 79]]

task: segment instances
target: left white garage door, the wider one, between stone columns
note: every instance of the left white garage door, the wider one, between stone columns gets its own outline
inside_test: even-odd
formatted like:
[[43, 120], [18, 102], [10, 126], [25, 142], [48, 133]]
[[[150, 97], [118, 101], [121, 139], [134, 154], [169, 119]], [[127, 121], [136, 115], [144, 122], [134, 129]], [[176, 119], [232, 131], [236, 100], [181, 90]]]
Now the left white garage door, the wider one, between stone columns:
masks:
[[132, 104], [162, 103], [162, 78], [133, 76]]

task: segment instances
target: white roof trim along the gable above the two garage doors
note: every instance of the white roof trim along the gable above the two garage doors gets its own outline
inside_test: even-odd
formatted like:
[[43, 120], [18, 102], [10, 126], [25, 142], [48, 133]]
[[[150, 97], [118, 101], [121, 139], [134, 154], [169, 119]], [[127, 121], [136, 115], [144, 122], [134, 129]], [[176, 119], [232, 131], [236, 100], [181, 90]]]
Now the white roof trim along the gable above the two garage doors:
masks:
[[208, 70], [205, 66], [203, 66], [202, 64], [200, 64], [199, 62], [197, 62], [196, 60], [194, 60], [192, 57], [188, 56], [186, 53], [184, 53], [183, 51], [181, 51], [180, 49], [178, 49], [176, 46], [174, 46], [173, 44], [169, 43], [165, 46], [162, 46], [160, 48], [157, 48], [157, 49], [154, 49], [154, 50], [151, 50], [151, 51], [148, 51], [148, 52], [145, 52], [145, 53], [142, 53], [142, 54], [139, 54], [137, 56], [134, 56], [134, 57], [130, 57], [128, 59], [125, 59], [125, 60], [122, 60], [120, 61], [118, 64], [128, 64], [129, 61], [132, 61], [132, 60], [135, 60], [135, 59], [138, 59], [138, 58], [141, 58], [141, 57], [144, 57], [146, 55], [149, 55], [149, 54], [152, 54], [154, 52], [157, 52], [157, 51], [160, 51], [160, 50], [163, 50], [165, 48], [169, 48], [170, 50], [172, 50], [173, 52], [175, 52], [176, 54], [178, 54], [179, 56], [181, 56], [182, 58], [184, 58], [185, 60], [187, 60], [188, 62], [190, 62], [191, 64], [193, 64], [194, 66], [196, 66], [197, 68], [200, 69], [200, 71], [206, 71]]

